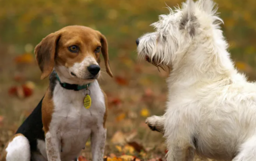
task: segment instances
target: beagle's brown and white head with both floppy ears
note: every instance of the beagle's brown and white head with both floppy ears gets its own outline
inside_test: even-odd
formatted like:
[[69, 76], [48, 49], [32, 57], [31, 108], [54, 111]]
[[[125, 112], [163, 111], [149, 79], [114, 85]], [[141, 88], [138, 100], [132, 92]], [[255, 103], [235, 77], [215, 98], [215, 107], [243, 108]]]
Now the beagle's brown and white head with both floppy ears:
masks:
[[108, 58], [108, 43], [104, 35], [84, 26], [68, 26], [46, 36], [35, 47], [41, 79], [53, 68], [66, 82], [83, 84], [99, 77], [99, 55], [102, 52], [106, 72], [112, 77]]

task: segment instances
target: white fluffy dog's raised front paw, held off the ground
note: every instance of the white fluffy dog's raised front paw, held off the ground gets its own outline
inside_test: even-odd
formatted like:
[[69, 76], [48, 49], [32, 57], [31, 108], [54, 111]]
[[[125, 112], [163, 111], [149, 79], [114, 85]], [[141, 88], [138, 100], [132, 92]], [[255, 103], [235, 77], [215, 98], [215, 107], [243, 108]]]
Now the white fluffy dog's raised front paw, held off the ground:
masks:
[[165, 115], [151, 116], [146, 119], [146, 124], [152, 131], [158, 131], [160, 133], [164, 133]]

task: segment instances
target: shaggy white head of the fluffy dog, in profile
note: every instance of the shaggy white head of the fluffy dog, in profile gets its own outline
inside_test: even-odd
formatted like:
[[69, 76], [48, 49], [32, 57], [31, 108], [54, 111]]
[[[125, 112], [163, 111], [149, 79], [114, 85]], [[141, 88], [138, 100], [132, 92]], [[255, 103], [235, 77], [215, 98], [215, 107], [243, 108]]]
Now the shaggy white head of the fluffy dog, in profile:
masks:
[[214, 5], [211, 0], [187, 0], [181, 8], [168, 8], [169, 15], [160, 15], [159, 21], [151, 24], [155, 32], [136, 40], [139, 57], [155, 66], [178, 66], [184, 54], [197, 46], [193, 40], [200, 37], [200, 32], [211, 30], [222, 21], [215, 16]]

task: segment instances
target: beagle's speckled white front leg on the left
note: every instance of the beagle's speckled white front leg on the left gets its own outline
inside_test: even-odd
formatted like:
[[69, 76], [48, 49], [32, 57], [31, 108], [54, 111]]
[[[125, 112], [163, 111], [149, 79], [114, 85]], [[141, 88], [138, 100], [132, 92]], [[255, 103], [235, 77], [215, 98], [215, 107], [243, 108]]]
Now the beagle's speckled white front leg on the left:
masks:
[[60, 160], [60, 141], [57, 135], [48, 131], [45, 134], [45, 145], [48, 161], [61, 161]]

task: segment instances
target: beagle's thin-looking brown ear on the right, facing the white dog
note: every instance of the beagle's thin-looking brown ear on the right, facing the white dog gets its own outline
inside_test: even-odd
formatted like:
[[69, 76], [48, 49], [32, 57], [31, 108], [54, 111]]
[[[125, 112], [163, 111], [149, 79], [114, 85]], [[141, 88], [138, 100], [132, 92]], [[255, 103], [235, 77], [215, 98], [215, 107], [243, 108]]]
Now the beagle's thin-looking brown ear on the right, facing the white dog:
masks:
[[109, 54], [108, 54], [108, 42], [104, 35], [101, 34], [101, 52], [105, 61], [106, 71], [110, 77], [113, 77], [113, 74], [109, 65]]

